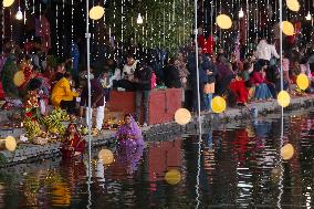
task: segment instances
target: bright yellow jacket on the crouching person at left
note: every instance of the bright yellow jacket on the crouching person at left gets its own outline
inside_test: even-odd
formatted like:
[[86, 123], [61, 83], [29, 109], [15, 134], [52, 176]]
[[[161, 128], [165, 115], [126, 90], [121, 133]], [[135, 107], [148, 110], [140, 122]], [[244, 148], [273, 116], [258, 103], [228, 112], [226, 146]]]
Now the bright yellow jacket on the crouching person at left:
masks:
[[59, 107], [61, 101], [73, 101], [77, 96], [76, 92], [71, 91], [69, 80], [62, 77], [52, 88], [51, 102], [53, 106]]

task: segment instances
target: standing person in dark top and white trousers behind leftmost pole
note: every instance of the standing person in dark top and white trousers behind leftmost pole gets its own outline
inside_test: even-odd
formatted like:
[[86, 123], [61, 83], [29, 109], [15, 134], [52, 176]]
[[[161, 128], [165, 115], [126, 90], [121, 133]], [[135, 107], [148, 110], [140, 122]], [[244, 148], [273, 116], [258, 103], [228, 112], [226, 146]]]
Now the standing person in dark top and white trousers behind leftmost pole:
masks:
[[[91, 119], [93, 115], [93, 111], [96, 111], [96, 134], [98, 134], [103, 129], [103, 123], [104, 123], [104, 117], [105, 117], [105, 91], [100, 82], [98, 79], [93, 79], [91, 80], [91, 94], [92, 94], [92, 109], [91, 109]], [[82, 94], [81, 94], [81, 106], [86, 107], [86, 124], [90, 124], [88, 121], [88, 88], [87, 84], [84, 86]], [[83, 113], [80, 112], [80, 116], [82, 117]]]

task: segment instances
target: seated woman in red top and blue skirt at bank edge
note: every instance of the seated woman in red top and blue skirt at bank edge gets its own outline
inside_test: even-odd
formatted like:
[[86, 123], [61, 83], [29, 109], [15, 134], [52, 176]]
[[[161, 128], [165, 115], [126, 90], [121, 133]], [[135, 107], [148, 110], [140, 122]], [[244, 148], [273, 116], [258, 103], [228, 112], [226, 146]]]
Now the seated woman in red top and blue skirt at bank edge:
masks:
[[255, 64], [254, 66], [254, 71], [251, 75], [251, 83], [255, 86], [255, 94], [254, 94], [254, 98], [257, 101], [264, 101], [264, 100], [269, 100], [272, 97], [272, 94], [269, 90], [269, 86], [266, 85], [266, 81], [265, 81], [265, 76], [262, 74], [264, 72], [262, 71], [262, 66]]

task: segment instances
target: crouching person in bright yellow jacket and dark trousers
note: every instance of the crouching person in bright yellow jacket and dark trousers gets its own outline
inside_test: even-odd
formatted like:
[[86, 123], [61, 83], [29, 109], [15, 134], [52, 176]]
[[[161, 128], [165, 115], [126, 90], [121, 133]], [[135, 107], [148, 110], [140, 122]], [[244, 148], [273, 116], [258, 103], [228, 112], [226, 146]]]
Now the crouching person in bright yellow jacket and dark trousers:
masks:
[[71, 90], [71, 75], [65, 73], [53, 86], [51, 102], [55, 108], [65, 109], [70, 115], [74, 115], [76, 98], [78, 94]]

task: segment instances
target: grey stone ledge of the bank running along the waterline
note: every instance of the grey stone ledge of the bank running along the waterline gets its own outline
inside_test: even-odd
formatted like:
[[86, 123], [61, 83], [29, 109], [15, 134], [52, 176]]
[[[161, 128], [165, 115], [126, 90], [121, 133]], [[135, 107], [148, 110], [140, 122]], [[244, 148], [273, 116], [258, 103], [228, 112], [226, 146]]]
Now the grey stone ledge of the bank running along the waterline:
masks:
[[[251, 107], [257, 108], [258, 116], [266, 116], [269, 114], [276, 114], [281, 112], [281, 107], [278, 105], [276, 101], [264, 102], [264, 103], [252, 103]], [[314, 106], [314, 95], [307, 95], [302, 97], [294, 97], [291, 101], [291, 104], [285, 111], [294, 111], [304, 108], [310, 108]], [[1, 115], [7, 114], [8, 112], [1, 112]], [[3, 115], [4, 116], [4, 115]], [[3, 118], [3, 117], [2, 117]], [[228, 108], [222, 114], [203, 114], [202, 124], [203, 132], [211, 127], [211, 124], [217, 126], [218, 124], [230, 124], [234, 122], [241, 122], [243, 119], [252, 118], [252, 114], [245, 107]], [[167, 123], [160, 125], [154, 125], [150, 127], [143, 128], [143, 134], [146, 138], [146, 142], [163, 142], [176, 138], [182, 134], [193, 134], [197, 133], [197, 118], [195, 117], [191, 123], [186, 126], [179, 126], [176, 123]], [[0, 129], [0, 137], [3, 138], [8, 135], [19, 137], [23, 134], [22, 128], [13, 129]], [[103, 130], [101, 135], [92, 138], [92, 147], [106, 146], [114, 142], [115, 130]], [[32, 144], [19, 144], [15, 151], [0, 151], [0, 168], [9, 167], [21, 163], [34, 161], [45, 158], [52, 158], [60, 155], [59, 151], [60, 143], [48, 144], [44, 146], [32, 145]]]

